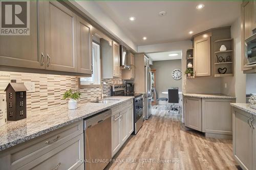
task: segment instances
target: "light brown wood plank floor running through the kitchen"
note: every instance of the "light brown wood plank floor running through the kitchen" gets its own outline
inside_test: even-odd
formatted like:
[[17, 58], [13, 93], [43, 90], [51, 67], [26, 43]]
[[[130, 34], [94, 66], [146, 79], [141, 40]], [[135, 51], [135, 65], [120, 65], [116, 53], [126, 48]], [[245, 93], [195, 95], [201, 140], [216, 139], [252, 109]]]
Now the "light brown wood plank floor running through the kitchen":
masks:
[[138, 134], [132, 135], [113, 158], [119, 162], [106, 169], [238, 169], [232, 140], [205, 138], [187, 130], [180, 114], [152, 111]]

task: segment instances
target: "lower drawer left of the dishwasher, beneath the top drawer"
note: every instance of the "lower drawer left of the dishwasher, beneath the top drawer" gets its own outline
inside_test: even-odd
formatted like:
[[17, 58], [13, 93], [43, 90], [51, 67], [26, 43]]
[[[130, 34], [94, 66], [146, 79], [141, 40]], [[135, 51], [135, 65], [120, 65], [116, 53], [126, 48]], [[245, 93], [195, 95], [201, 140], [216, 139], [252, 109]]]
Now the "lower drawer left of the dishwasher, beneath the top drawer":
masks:
[[20, 167], [22, 169], [76, 169], [83, 160], [83, 134], [61, 144], [59, 147]]

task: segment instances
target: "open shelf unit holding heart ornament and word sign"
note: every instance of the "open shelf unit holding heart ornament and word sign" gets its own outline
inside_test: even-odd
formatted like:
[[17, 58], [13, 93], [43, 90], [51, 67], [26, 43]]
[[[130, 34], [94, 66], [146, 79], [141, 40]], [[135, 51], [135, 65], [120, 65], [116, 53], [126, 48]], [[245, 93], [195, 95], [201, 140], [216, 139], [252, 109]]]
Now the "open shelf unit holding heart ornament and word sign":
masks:
[[[227, 50], [220, 51], [221, 45]], [[233, 39], [220, 39], [214, 42], [214, 71], [215, 77], [234, 76]]]

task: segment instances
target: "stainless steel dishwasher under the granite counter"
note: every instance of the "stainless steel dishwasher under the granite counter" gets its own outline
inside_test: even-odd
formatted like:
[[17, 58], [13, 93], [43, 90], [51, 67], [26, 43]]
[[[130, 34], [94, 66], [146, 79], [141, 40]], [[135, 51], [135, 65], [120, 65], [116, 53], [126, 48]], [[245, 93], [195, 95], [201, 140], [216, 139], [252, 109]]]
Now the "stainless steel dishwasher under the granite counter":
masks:
[[111, 157], [111, 110], [84, 120], [86, 170], [102, 170]]

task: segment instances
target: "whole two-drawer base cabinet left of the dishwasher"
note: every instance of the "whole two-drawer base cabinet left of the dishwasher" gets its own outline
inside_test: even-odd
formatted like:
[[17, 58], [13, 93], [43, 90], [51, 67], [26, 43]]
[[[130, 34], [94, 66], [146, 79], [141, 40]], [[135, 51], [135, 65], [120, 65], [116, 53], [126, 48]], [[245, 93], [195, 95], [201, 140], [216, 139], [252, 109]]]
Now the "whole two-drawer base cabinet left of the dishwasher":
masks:
[[2, 151], [0, 169], [76, 169], [83, 148], [80, 121]]

